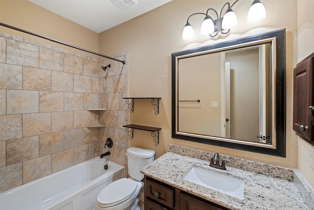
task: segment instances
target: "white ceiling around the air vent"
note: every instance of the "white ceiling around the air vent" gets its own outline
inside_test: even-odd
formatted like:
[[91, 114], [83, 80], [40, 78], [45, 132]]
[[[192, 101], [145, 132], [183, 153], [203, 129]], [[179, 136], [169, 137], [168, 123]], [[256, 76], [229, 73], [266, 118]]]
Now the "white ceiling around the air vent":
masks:
[[[100, 33], [171, 0], [135, 0], [131, 8], [122, 9], [111, 0], [29, 0], [87, 29]], [[118, 0], [134, 2], [134, 0]]]

